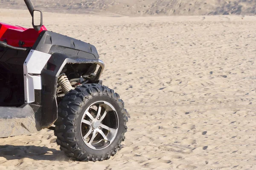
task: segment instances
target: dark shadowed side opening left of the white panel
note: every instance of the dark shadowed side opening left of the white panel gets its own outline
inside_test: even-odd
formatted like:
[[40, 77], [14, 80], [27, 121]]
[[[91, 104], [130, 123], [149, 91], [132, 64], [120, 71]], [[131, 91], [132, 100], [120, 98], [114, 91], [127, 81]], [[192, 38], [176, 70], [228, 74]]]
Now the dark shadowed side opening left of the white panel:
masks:
[[23, 63], [27, 56], [28, 51], [0, 48], [0, 106], [25, 103]]

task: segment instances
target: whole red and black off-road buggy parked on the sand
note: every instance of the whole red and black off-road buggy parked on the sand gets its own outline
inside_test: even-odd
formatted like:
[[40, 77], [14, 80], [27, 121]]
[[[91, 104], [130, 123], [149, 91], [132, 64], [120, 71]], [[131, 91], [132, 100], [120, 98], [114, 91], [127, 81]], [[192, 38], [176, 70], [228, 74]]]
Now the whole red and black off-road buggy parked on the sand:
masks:
[[52, 31], [24, 0], [33, 28], [0, 23], [0, 137], [54, 130], [77, 161], [103, 161], [125, 139], [127, 111], [102, 85], [95, 46]]

